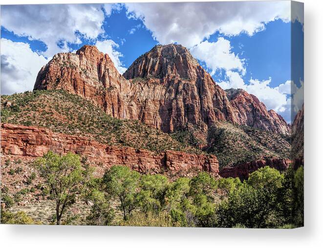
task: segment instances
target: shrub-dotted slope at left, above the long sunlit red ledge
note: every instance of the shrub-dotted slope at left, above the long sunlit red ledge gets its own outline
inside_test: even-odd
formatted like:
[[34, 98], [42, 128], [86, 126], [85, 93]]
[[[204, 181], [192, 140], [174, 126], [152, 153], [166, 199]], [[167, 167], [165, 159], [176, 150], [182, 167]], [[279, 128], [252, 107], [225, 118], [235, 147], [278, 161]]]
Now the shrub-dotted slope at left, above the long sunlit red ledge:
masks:
[[1, 123], [45, 127], [53, 132], [87, 136], [108, 145], [201, 153], [139, 121], [113, 118], [89, 101], [64, 90], [26, 91], [1, 98]]

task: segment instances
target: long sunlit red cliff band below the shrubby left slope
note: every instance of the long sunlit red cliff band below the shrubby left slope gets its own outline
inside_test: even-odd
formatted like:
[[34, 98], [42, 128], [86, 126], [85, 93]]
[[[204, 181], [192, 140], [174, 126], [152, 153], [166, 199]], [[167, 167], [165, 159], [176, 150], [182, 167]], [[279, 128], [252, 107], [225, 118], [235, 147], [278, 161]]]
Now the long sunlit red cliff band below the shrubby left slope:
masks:
[[42, 157], [49, 150], [86, 156], [102, 175], [112, 165], [125, 165], [140, 173], [164, 173], [171, 178], [192, 177], [206, 171], [218, 177], [215, 156], [165, 151], [153, 153], [131, 147], [107, 146], [86, 137], [53, 133], [45, 128], [4, 123], [1, 125], [1, 153], [27, 157]]

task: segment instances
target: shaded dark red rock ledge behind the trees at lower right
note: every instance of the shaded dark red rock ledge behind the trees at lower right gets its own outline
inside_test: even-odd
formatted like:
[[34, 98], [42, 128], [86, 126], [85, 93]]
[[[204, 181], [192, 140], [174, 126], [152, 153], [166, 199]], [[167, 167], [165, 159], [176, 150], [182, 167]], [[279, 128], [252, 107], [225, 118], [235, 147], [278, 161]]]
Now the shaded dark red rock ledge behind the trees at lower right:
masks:
[[219, 175], [223, 178], [232, 177], [232, 178], [247, 179], [250, 173], [258, 170], [261, 167], [269, 166], [279, 171], [284, 171], [290, 166], [291, 162], [292, 161], [289, 159], [281, 159], [281, 158], [252, 161], [252, 162], [236, 165], [235, 167], [222, 168], [219, 172]]

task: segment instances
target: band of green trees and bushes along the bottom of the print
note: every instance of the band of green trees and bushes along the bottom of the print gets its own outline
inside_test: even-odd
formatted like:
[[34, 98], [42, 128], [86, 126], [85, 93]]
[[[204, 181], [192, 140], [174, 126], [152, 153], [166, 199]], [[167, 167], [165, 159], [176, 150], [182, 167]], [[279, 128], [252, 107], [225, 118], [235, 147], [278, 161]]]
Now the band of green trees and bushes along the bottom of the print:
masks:
[[[81, 201], [91, 203], [91, 209], [81, 210], [85, 218], [79, 225], [250, 228], [303, 225], [302, 167], [296, 172], [289, 168], [280, 173], [266, 166], [241, 182], [238, 178], [215, 180], [206, 172], [192, 179], [170, 181], [162, 175], [140, 175], [124, 166], [112, 166], [102, 178], [94, 178], [88, 164], [74, 154], [49, 153], [33, 164], [45, 178], [47, 199], [67, 203], [59, 209], [59, 217], [53, 216], [53, 223], [60, 225], [72, 224], [70, 220], [80, 214], [71, 211], [72, 204]], [[52, 177], [52, 169], [57, 169], [58, 177]], [[80, 179], [85, 180], [79, 184]], [[64, 186], [62, 196], [57, 197], [55, 185]], [[53, 211], [55, 208], [52, 205]], [[2, 208], [1, 213], [1, 223], [35, 223], [23, 212], [14, 214]]]

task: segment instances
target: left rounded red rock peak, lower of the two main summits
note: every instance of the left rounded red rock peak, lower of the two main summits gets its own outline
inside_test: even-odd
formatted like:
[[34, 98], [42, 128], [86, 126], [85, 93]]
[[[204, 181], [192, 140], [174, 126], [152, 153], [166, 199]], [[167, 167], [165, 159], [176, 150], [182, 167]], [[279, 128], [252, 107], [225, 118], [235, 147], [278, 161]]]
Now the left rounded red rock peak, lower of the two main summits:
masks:
[[134, 117], [127, 115], [131, 107], [125, 103], [129, 81], [95, 46], [85, 45], [76, 53], [58, 53], [39, 71], [34, 90], [53, 89], [80, 95], [113, 117]]

